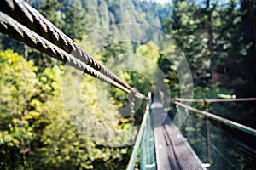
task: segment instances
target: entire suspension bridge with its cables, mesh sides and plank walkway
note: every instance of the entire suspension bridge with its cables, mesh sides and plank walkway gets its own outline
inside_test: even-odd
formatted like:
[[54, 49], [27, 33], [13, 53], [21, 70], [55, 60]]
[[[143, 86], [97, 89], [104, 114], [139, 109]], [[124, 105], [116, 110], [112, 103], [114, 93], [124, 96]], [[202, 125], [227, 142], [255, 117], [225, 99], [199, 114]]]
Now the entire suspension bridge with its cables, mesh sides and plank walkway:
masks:
[[[25, 1], [1, 2], [0, 31], [131, 94], [131, 110], [135, 99], [143, 99], [148, 103], [127, 165], [128, 170], [255, 169], [256, 150], [252, 147], [256, 137], [255, 129], [208, 111], [201, 111], [186, 103], [255, 101], [255, 98], [175, 99], [173, 105], [177, 107], [177, 121], [186, 120], [182, 127], [177, 127], [172, 120], [173, 116], [165, 111], [160, 99], [151, 94], [146, 97], [131, 88]], [[187, 113], [186, 119], [179, 114], [181, 111]], [[230, 130], [244, 133], [252, 144], [248, 145], [238, 139], [229, 133]]]

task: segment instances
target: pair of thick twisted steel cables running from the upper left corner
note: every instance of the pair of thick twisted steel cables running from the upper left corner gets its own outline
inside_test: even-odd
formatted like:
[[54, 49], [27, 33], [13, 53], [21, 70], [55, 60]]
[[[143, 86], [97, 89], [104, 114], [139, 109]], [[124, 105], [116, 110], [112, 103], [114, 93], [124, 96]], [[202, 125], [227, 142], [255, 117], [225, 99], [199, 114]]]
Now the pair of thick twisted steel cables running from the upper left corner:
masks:
[[134, 94], [139, 99], [147, 99], [86, 53], [77, 43], [25, 1], [3, 0], [0, 11], [0, 31], [9, 37], [24, 42], [26, 45], [84, 71], [90, 76], [108, 82], [128, 94]]

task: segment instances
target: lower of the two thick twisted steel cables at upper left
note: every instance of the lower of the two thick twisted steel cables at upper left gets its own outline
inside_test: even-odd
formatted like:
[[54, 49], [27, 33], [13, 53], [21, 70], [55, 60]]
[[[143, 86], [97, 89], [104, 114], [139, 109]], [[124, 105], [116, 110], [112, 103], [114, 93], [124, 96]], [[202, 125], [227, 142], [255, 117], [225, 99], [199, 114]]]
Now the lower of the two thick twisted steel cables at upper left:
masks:
[[114, 87], [124, 90], [127, 93], [131, 93], [128, 88], [125, 88], [118, 82], [114, 82], [111, 78], [103, 75], [99, 71], [96, 71], [89, 65], [81, 62], [79, 59], [74, 58], [73, 55], [67, 54], [67, 52], [61, 48], [56, 47], [48, 40], [38, 36], [38, 34], [30, 31], [26, 26], [20, 25], [20, 23], [2, 12], [0, 12], [0, 31], [9, 35], [9, 37], [14, 37], [16, 40], [26, 43], [32, 48], [38, 49], [38, 51], [44, 54], [49, 54], [49, 56], [58, 59], [63, 63], [67, 63], [67, 65], [73, 66], [79, 71], [84, 71], [84, 73], [89, 74], [90, 76], [96, 77], [104, 82], [108, 82]]

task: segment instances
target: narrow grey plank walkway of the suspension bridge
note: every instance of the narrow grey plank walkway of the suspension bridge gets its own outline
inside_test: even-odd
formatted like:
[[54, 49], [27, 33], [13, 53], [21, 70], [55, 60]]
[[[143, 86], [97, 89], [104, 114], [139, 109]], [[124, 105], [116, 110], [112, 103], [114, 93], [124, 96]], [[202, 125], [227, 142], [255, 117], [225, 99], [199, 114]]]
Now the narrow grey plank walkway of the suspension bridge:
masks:
[[205, 169], [160, 102], [151, 105], [157, 168]]

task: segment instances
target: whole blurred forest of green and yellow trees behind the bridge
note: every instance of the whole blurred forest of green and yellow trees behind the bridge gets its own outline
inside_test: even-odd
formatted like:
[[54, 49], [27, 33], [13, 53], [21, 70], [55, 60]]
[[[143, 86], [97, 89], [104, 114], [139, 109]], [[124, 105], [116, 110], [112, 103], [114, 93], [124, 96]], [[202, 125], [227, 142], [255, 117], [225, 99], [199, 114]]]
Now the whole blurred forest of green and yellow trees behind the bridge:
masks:
[[[195, 99], [256, 97], [255, 0], [26, 2], [142, 94], [166, 90], [171, 117], [181, 89]], [[190, 75], [177, 74], [179, 56]], [[126, 168], [142, 100], [127, 116], [124, 92], [2, 33], [0, 94], [0, 169]], [[255, 101], [192, 105], [256, 128]], [[229, 133], [256, 149], [255, 137]]]

